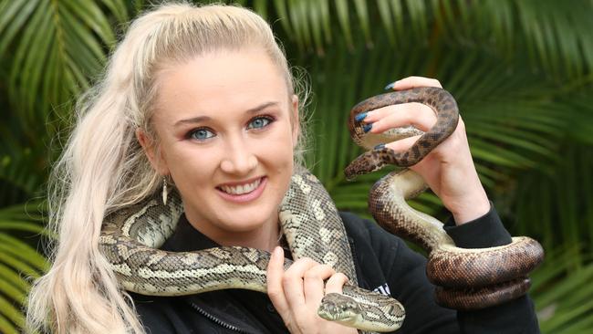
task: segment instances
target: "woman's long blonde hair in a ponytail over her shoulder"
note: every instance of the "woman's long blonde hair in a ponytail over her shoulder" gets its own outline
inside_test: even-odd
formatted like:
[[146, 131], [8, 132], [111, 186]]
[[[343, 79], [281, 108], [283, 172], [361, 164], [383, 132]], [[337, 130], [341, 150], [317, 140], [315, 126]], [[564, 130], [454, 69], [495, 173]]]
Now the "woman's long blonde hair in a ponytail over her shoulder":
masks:
[[[76, 126], [52, 172], [48, 228], [59, 240], [49, 247], [53, 266], [31, 289], [27, 331], [144, 332], [130, 296], [99, 253], [101, 222], [105, 214], [140, 202], [160, 186], [161, 176], [151, 168], [135, 130], [154, 135], [151, 113], [161, 68], [242, 47], [262, 47], [284, 74], [288, 94], [294, 94], [294, 78], [270, 26], [247, 9], [161, 5], [132, 22], [104, 77], [79, 100]], [[295, 151], [297, 164], [303, 159], [303, 138]]]

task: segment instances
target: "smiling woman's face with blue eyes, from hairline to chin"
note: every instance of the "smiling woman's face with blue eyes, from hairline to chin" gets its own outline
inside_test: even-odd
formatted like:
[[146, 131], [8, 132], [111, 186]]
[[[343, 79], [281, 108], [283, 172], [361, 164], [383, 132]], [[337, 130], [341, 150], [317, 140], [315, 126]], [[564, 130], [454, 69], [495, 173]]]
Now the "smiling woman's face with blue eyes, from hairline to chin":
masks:
[[265, 52], [195, 57], [163, 70], [158, 89], [160, 153], [151, 161], [171, 175], [192, 225], [224, 245], [277, 231], [293, 171], [297, 99]]

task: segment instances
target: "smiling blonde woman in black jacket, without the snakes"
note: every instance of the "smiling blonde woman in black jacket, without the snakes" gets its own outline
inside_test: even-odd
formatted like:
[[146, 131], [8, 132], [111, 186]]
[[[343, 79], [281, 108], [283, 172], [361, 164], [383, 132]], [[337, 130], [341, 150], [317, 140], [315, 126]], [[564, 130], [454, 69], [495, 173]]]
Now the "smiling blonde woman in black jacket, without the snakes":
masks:
[[[418, 86], [440, 84], [404, 78], [391, 88]], [[50, 198], [59, 241], [53, 266], [31, 292], [28, 329], [356, 333], [316, 314], [324, 293], [341, 291], [343, 274], [307, 258], [286, 271], [282, 267], [277, 208], [301, 161], [302, 104], [270, 27], [249, 10], [161, 5], [137, 18], [104, 78], [81, 102], [57, 162]], [[434, 116], [403, 105], [369, 112], [364, 121], [376, 133], [404, 124], [426, 130]], [[410, 144], [388, 146], [401, 150]], [[452, 212], [448, 229], [458, 242], [508, 243], [473, 167], [463, 121], [412, 168]], [[98, 250], [103, 217], [161, 192], [163, 183], [181, 194], [184, 214], [162, 248], [242, 245], [269, 251], [267, 295], [223, 290], [143, 297], [120, 289]], [[376, 224], [352, 214], [341, 217], [359, 285], [390, 294], [406, 308], [399, 332], [537, 331], [528, 297], [474, 312], [438, 307], [422, 256]]]

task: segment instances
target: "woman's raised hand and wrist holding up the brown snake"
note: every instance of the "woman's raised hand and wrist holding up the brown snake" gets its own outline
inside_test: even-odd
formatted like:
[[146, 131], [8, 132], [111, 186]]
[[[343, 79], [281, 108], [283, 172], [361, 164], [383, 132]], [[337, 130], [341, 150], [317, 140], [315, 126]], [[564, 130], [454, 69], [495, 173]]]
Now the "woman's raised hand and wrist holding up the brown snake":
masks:
[[[393, 90], [415, 87], [442, 88], [438, 80], [421, 77], [403, 78], [393, 84]], [[407, 125], [426, 131], [436, 122], [436, 115], [426, 105], [404, 103], [369, 111], [363, 121], [372, 123], [370, 133]], [[394, 151], [406, 151], [418, 138], [393, 141], [385, 146]], [[490, 210], [490, 202], [473, 165], [461, 116], [453, 134], [410, 169], [418, 172], [439, 196], [442, 204], [453, 214], [456, 224], [467, 223]]]

